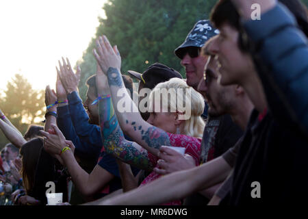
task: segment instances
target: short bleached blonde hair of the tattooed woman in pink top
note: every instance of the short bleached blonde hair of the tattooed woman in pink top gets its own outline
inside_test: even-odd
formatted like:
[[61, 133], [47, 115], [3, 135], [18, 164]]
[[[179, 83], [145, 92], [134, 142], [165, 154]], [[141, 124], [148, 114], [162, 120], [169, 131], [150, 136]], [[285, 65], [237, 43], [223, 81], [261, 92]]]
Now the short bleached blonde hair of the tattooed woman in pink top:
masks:
[[194, 90], [192, 87], [188, 86], [187, 83], [183, 81], [183, 79], [172, 78], [169, 81], [158, 83], [157, 86], [155, 86], [155, 88], [152, 90], [149, 96], [149, 109], [153, 109], [153, 97], [155, 97], [155, 93], [159, 93], [160, 90], [164, 88], [166, 88], [168, 92], [170, 92], [170, 90], [175, 90], [177, 94], [182, 94], [181, 92], [179, 92], [180, 90], [186, 90], [190, 92], [191, 96], [189, 99], [185, 98], [185, 94], [177, 95], [177, 98], [168, 98], [168, 100], [161, 99], [160, 104], [162, 105], [162, 109], [168, 109], [168, 112], [180, 112], [183, 114], [185, 112], [181, 112], [182, 109], [179, 109], [177, 101], [183, 101], [182, 103], [185, 106], [189, 105], [191, 109], [190, 118], [184, 121], [184, 133], [181, 134], [193, 136], [196, 138], [202, 138], [203, 129], [205, 127], [205, 122], [201, 118], [205, 107], [203, 96], [196, 92], [196, 90]]

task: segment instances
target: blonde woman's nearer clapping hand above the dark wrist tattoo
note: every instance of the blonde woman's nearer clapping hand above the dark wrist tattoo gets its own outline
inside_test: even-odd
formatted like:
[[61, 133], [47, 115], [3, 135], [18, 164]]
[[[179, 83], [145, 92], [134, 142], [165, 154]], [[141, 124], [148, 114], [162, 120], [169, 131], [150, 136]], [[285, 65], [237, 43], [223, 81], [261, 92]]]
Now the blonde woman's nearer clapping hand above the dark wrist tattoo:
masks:
[[93, 53], [101, 70], [103, 70], [103, 73], [106, 75], [109, 68], [120, 70], [121, 57], [118, 48], [116, 46], [112, 48], [106, 36], [99, 36], [97, 47], [93, 49]]

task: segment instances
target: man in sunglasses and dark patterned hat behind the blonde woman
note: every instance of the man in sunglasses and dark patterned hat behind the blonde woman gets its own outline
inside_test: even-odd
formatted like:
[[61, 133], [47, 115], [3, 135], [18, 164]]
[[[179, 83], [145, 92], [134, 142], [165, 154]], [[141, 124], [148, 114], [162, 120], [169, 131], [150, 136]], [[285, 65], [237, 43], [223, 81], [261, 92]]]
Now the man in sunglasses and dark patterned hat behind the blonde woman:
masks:
[[[231, 116], [225, 114], [224, 109], [227, 109], [228, 103], [224, 98], [221, 98], [223, 96], [219, 96], [217, 90], [214, 90], [216, 93], [211, 93], [210, 95], [209, 92], [206, 93], [204, 90], [198, 90], [198, 84], [204, 79], [205, 64], [209, 59], [207, 54], [201, 54], [201, 48], [204, 44], [209, 43], [218, 33], [219, 31], [209, 21], [198, 21], [188, 34], [185, 42], [175, 49], [175, 55], [181, 59], [181, 65], [185, 68], [188, 86], [200, 92], [207, 101], [211, 101], [207, 125], [205, 126], [201, 143], [201, 164], [222, 155], [234, 146], [240, 136], [242, 136], [240, 127], [233, 123]], [[214, 102], [209, 96], [214, 99]], [[203, 117], [207, 117], [207, 109], [205, 109]], [[166, 151], [161, 152], [166, 153]], [[177, 153], [172, 152], [168, 153], [168, 155], [173, 157], [169, 161], [159, 157], [162, 159], [162, 162], [158, 162], [160, 169], [157, 169], [157, 172], [159, 174], [192, 168], [185, 157], [179, 157]], [[171, 160], [172, 162], [170, 162]], [[184, 205], [205, 205], [218, 188], [219, 185], [216, 185], [210, 190], [202, 191], [202, 195], [194, 194], [188, 196], [185, 198]]]

